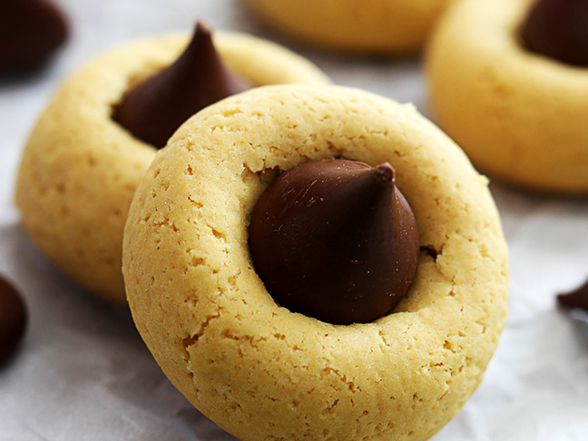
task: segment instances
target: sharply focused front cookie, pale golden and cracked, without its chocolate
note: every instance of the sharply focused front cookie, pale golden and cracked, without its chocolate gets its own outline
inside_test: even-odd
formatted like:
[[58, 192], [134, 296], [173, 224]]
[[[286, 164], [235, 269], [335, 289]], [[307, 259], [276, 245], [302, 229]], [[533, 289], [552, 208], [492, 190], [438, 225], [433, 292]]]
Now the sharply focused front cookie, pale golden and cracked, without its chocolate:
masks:
[[[254, 269], [250, 216], [281, 171], [388, 162], [420, 231], [393, 313], [332, 325], [280, 307]], [[505, 325], [495, 203], [410, 104], [339, 86], [267, 86], [211, 105], [158, 153], [125, 227], [132, 316], [171, 382], [242, 440], [424, 440], [482, 380]]]

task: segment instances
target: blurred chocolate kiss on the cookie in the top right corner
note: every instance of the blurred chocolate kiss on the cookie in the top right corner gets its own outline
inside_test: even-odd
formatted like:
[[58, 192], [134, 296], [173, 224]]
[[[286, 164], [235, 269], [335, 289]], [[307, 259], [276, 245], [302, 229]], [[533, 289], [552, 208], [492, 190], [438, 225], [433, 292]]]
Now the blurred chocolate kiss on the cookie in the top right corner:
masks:
[[588, 1], [539, 0], [521, 27], [521, 38], [532, 52], [588, 66]]

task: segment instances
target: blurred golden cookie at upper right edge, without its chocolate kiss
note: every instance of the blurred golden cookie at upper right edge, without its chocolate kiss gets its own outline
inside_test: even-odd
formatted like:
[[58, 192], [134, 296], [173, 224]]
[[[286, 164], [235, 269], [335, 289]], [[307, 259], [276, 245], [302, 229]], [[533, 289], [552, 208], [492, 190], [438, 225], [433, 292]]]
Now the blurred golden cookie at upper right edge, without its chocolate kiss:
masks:
[[466, 0], [426, 54], [435, 121], [490, 177], [515, 187], [588, 193], [588, 69], [527, 49], [529, 0]]

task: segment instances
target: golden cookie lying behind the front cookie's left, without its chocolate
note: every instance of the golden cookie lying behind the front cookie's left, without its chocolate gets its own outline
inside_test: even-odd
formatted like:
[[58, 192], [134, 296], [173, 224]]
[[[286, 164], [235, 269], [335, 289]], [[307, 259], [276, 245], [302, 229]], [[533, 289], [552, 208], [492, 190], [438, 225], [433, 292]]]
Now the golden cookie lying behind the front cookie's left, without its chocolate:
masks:
[[[309, 61], [245, 34], [218, 34], [220, 54], [253, 85], [328, 83]], [[25, 230], [86, 289], [126, 301], [121, 273], [126, 213], [156, 149], [113, 122], [113, 106], [171, 63], [187, 43], [171, 35], [102, 54], [65, 81], [25, 147], [16, 203]]]

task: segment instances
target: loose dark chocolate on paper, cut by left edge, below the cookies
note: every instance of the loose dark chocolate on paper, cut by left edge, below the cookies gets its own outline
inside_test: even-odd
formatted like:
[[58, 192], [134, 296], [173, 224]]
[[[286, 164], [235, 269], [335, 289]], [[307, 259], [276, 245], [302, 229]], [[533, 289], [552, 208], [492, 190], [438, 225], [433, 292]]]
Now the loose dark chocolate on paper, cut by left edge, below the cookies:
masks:
[[0, 277], [0, 363], [14, 353], [25, 335], [26, 309], [16, 289]]

